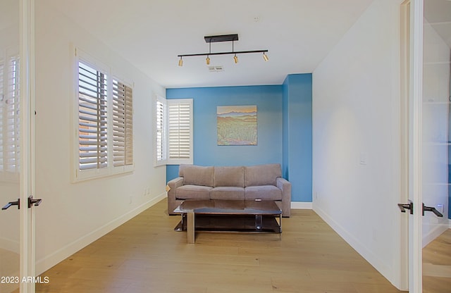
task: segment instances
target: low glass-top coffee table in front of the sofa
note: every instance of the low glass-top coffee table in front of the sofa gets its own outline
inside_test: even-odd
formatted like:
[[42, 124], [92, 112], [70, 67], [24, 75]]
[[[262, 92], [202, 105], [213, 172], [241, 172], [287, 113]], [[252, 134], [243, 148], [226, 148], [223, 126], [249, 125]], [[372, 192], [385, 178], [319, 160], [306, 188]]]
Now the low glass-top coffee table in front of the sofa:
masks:
[[186, 230], [188, 243], [194, 243], [196, 231], [282, 233], [275, 201], [187, 199], [174, 212], [182, 215], [174, 230]]

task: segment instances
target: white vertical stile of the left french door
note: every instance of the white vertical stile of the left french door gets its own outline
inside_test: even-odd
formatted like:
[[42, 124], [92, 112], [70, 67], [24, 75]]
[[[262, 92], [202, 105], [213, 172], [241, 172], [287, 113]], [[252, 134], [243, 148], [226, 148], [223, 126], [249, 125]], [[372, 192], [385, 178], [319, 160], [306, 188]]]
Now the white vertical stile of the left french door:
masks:
[[[35, 0], [20, 0], [20, 292], [35, 292]], [[25, 278], [25, 282], [23, 281]]]

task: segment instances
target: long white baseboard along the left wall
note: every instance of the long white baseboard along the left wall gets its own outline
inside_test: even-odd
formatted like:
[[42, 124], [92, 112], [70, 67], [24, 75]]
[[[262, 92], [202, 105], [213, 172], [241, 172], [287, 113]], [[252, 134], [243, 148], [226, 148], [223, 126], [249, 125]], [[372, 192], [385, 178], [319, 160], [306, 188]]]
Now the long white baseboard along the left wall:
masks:
[[150, 199], [149, 201], [142, 204], [141, 206], [138, 206], [137, 208], [133, 209], [132, 211], [125, 213], [124, 215], [120, 216], [119, 218], [111, 220], [106, 225], [103, 225], [103, 226], [97, 228], [96, 230], [89, 232], [87, 235], [80, 237], [79, 239], [66, 245], [63, 248], [58, 249], [53, 254], [50, 254], [50, 255], [46, 256], [45, 258], [39, 259], [36, 262], [36, 273], [37, 273], [36, 275], [44, 273], [46, 270], [48, 270], [52, 266], [55, 266], [57, 263], [63, 261], [64, 259], [68, 258], [72, 254], [75, 254], [75, 252], [79, 251], [83, 247], [86, 247], [87, 245], [91, 244], [92, 242], [99, 239], [100, 237], [106, 235], [108, 232], [111, 232], [112, 230], [116, 229], [116, 227], [119, 227], [123, 223], [127, 222], [131, 218], [142, 213], [147, 208], [153, 206], [157, 202], [161, 201], [161, 199], [164, 199], [166, 197], [167, 197], [166, 192], [164, 192], [163, 194], [160, 194], [159, 196], [155, 197], [154, 199]]

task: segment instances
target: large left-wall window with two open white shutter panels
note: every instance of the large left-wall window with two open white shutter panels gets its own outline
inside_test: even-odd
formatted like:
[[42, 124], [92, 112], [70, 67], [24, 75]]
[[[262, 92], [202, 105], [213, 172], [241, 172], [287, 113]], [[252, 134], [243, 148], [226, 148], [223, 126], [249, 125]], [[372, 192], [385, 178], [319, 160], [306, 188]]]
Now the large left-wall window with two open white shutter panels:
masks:
[[76, 51], [77, 151], [75, 180], [128, 172], [133, 167], [132, 87]]

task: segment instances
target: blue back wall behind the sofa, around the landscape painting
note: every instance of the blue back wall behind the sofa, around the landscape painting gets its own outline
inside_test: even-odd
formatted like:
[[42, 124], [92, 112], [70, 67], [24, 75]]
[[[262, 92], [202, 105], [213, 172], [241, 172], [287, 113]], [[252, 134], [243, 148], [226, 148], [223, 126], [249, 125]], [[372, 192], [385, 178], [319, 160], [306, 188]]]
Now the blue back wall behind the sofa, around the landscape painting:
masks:
[[[193, 99], [194, 165], [282, 164], [282, 85], [166, 89], [166, 99]], [[257, 105], [257, 145], [218, 146], [216, 107]], [[178, 176], [167, 166], [166, 180]]]

